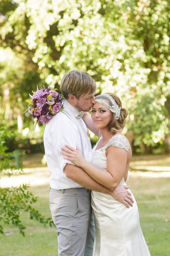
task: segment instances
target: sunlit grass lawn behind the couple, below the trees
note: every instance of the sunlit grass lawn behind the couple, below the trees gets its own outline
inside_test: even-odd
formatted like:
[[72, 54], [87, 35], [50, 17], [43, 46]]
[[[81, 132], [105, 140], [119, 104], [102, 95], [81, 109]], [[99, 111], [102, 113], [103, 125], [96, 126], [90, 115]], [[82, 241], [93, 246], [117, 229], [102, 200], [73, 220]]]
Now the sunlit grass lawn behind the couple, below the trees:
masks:
[[[16, 176], [24, 182], [25, 177], [32, 177], [33, 182], [30, 183], [30, 189], [35, 196], [39, 197], [35, 207], [49, 217], [49, 173], [47, 168], [41, 171], [41, 157], [38, 154], [26, 156], [24, 160], [25, 173]], [[140, 172], [138, 166], [140, 166]], [[155, 171], [153, 166], [155, 166]], [[170, 166], [170, 158], [167, 156], [134, 157], [131, 164], [132, 172], [130, 172], [128, 184], [137, 200], [141, 227], [152, 256], [170, 255], [170, 175], [164, 175], [170, 171], [168, 166]], [[5, 177], [2, 177], [2, 182], [3, 179]], [[42, 184], [39, 182], [41, 179], [43, 180]], [[38, 185], [35, 184], [35, 181]], [[41, 224], [30, 220], [26, 213], [22, 213], [21, 219], [26, 225], [26, 236], [20, 235], [17, 228], [5, 226], [5, 235], [0, 236], [0, 256], [56, 256], [56, 228], [44, 228]]]

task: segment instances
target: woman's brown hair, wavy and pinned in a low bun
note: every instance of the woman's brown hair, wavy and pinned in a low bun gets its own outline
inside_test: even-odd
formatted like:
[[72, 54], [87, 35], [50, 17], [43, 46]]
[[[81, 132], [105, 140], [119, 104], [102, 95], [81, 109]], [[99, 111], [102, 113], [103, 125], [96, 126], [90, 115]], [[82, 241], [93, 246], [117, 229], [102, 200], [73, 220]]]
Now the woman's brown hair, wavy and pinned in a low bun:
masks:
[[115, 114], [111, 112], [112, 117], [110, 122], [107, 124], [108, 132], [115, 134], [116, 132], [121, 132], [122, 129], [124, 128], [126, 123], [125, 119], [128, 115], [128, 111], [126, 108], [122, 108], [122, 102], [117, 95], [115, 95], [114, 93], [107, 93], [107, 94], [110, 95], [116, 101], [118, 107], [121, 107], [120, 118], [116, 120]]

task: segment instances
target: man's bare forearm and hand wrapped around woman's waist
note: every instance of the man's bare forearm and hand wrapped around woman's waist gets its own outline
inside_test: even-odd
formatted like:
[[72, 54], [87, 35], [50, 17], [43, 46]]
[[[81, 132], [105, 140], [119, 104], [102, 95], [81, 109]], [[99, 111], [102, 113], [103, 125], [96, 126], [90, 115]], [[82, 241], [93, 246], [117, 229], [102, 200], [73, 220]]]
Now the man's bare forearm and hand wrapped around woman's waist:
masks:
[[115, 200], [121, 202], [127, 208], [129, 208], [129, 205], [133, 206], [132, 203], [134, 202], [131, 193], [127, 190], [128, 186], [124, 187], [122, 184], [119, 184], [114, 191], [111, 191], [93, 180], [82, 168], [72, 164], [65, 165], [64, 173], [67, 178], [74, 180], [84, 188], [113, 196]]

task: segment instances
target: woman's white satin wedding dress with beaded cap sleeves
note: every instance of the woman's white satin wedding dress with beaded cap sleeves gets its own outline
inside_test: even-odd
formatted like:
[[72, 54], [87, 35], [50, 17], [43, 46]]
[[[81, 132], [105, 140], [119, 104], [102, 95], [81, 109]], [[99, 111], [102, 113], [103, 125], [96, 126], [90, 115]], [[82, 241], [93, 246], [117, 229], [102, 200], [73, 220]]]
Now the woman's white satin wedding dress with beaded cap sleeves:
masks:
[[[107, 171], [105, 151], [109, 146], [129, 150], [128, 141], [120, 134], [113, 136], [105, 147], [95, 151], [98, 143], [92, 149], [91, 163], [104, 171]], [[120, 183], [126, 184], [124, 178]], [[132, 197], [133, 207], [126, 208], [112, 196], [92, 191], [96, 229], [93, 256], [150, 256], [139, 223], [137, 203]]]

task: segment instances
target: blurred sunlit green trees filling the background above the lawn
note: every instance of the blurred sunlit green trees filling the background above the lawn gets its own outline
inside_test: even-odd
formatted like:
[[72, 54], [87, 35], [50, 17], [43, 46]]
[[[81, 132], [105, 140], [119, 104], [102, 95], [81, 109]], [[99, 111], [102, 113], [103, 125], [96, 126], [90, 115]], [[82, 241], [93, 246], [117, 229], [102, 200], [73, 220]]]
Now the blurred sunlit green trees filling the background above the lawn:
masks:
[[[164, 0], [0, 0], [0, 122], [10, 151], [43, 152], [25, 100], [72, 69], [128, 109], [136, 153], [170, 152], [170, 6]], [[91, 134], [92, 142], [96, 140]]]

